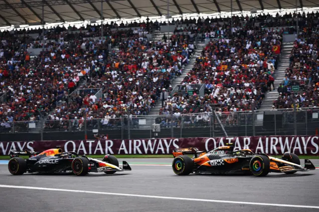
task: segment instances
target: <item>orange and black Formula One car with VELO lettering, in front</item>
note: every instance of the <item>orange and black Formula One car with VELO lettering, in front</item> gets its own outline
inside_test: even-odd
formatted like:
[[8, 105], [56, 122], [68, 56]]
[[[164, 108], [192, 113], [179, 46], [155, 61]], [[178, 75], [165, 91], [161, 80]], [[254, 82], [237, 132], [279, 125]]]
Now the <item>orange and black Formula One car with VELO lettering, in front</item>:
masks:
[[[184, 154], [194, 154], [190, 158]], [[300, 165], [296, 154], [286, 152], [281, 159], [266, 154], [255, 154], [250, 149], [233, 151], [233, 144], [226, 144], [212, 151], [197, 148], [179, 148], [173, 151], [172, 169], [176, 175], [198, 174], [252, 174], [266, 176], [269, 172], [293, 174], [297, 171], [316, 169], [310, 160]]]

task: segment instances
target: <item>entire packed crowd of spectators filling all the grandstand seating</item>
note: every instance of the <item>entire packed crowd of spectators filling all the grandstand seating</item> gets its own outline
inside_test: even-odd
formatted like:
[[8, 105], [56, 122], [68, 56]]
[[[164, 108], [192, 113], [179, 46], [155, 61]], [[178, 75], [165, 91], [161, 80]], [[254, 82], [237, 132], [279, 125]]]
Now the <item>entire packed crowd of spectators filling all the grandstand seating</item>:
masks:
[[[3, 31], [1, 131], [12, 130], [12, 121], [18, 121], [14, 129], [18, 131], [27, 128], [25, 121], [38, 120], [46, 120], [46, 130], [80, 130], [84, 119], [89, 120], [89, 127], [120, 128], [120, 117], [128, 117], [135, 127], [137, 115], [149, 114], [159, 100], [163, 100], [160, 114], [176, 117], [168, 122], [159, 120], [165, 126], [178, 125], [178, 117], [185, 113], [202, 112], [196, 119], [189, 116], [185, 123], [204, 124], [213, 110], [221, 114], [258, 109], [266, 91], [275, 89], [273, 76], [286, 33], [286, 29], [264, 27], [291, 26], [294, 15], [234, 16], [232, 28], [229, 17], [172, 20], [169, 24], [179, 24], [176, 33], [154, 42], [148, 34], [167, 23], [149, 18], [146, 22], [105, 24], [103, 37], [97, 24]], [[300, 15], [305, 26], [295, 42], [287, 77], [315, 82], [319, 64], [314, 20], [318, 13]], [[182, 85], [187, 90], [187, 85], [204, 84], [204, 95], [198, 91], [171, 93], [171, 81], [189, 63], [196, 36], [209, 42]], [[111, 49], [114, 47], [119, 50]], [[31, 58], [29, 52], [34, 48], [42, 51]], [[311, 101], [318, 100], [318, 93], [314, 97], [317, 88], [318, 83], [307, 87], [309, 98], [300, 106], [312, 106]], [[282, 104], [276, 102], [278, 105]]]

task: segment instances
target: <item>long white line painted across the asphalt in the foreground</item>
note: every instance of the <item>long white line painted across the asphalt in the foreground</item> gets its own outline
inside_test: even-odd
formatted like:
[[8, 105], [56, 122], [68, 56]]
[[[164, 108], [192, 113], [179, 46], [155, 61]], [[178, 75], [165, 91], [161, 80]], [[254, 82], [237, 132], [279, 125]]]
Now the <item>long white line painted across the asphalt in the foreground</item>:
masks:
[[275, 206], [275, 207], [288, 207], [288, 208], [319, 209], [319, 206], [302, 206], [302, 205], [273, 204], [273, 203], [252, 203], [252, 202], [237, 202], [237, 201], [225, 201], [225, 200], [206, 200], [206, 199], [194, 199], [194, 198], [162, 197], [162, 196], [134, 195], [134, 194], [122, 194], [122, 193], [110, 193], [110, 192], [93, 192], [93, 191], [80, 191], [80, 190], [68, 190], [68, 189], [52, 189], [52, 188], [29, 187], [29, 186], [0, 185], [0, 188], [73, 192], [73, 193], [85, 193], [85, 194], [100, 194], [100, 195], [140, 197], [140, 198], [165, 199], [165, 200], [182, 200], [182, 201], [207, 202], [207, 203], [228, 203], [228, 204], [241, 204], [241, 205], [254, 205], [254, 206]]

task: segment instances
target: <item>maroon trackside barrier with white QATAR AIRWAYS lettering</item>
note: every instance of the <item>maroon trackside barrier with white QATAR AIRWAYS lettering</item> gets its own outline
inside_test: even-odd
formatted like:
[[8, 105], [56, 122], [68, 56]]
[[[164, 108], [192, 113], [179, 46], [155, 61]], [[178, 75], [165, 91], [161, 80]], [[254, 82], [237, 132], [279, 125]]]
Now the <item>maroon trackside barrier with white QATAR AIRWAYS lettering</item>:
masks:
[[210, 151], [226, 143], [234, 144], [234, 151], [251, 149], [254, 153], [282, 155], [293, 152], [297, 155], [319, 155], [319, 136], [248, 136], [248, 137], [195, 137], [163, 139], [109, 139], [109, 140], [58, 140], [0, 142], [0, 155], [11, 150], [44, 151], [62, 148], [78, 154], [171, 154], [175, 148], [197, 147]]

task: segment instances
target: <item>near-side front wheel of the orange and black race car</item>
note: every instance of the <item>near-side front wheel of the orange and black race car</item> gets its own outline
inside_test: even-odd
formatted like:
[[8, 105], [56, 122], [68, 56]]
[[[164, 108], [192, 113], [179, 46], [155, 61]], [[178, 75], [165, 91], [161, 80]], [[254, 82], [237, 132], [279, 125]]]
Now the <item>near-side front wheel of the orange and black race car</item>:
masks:
[[249, 169], [255, 176], [266, 176], [270, 171], [270, 160], [266, 155], [257, 155], [250, 160]]

